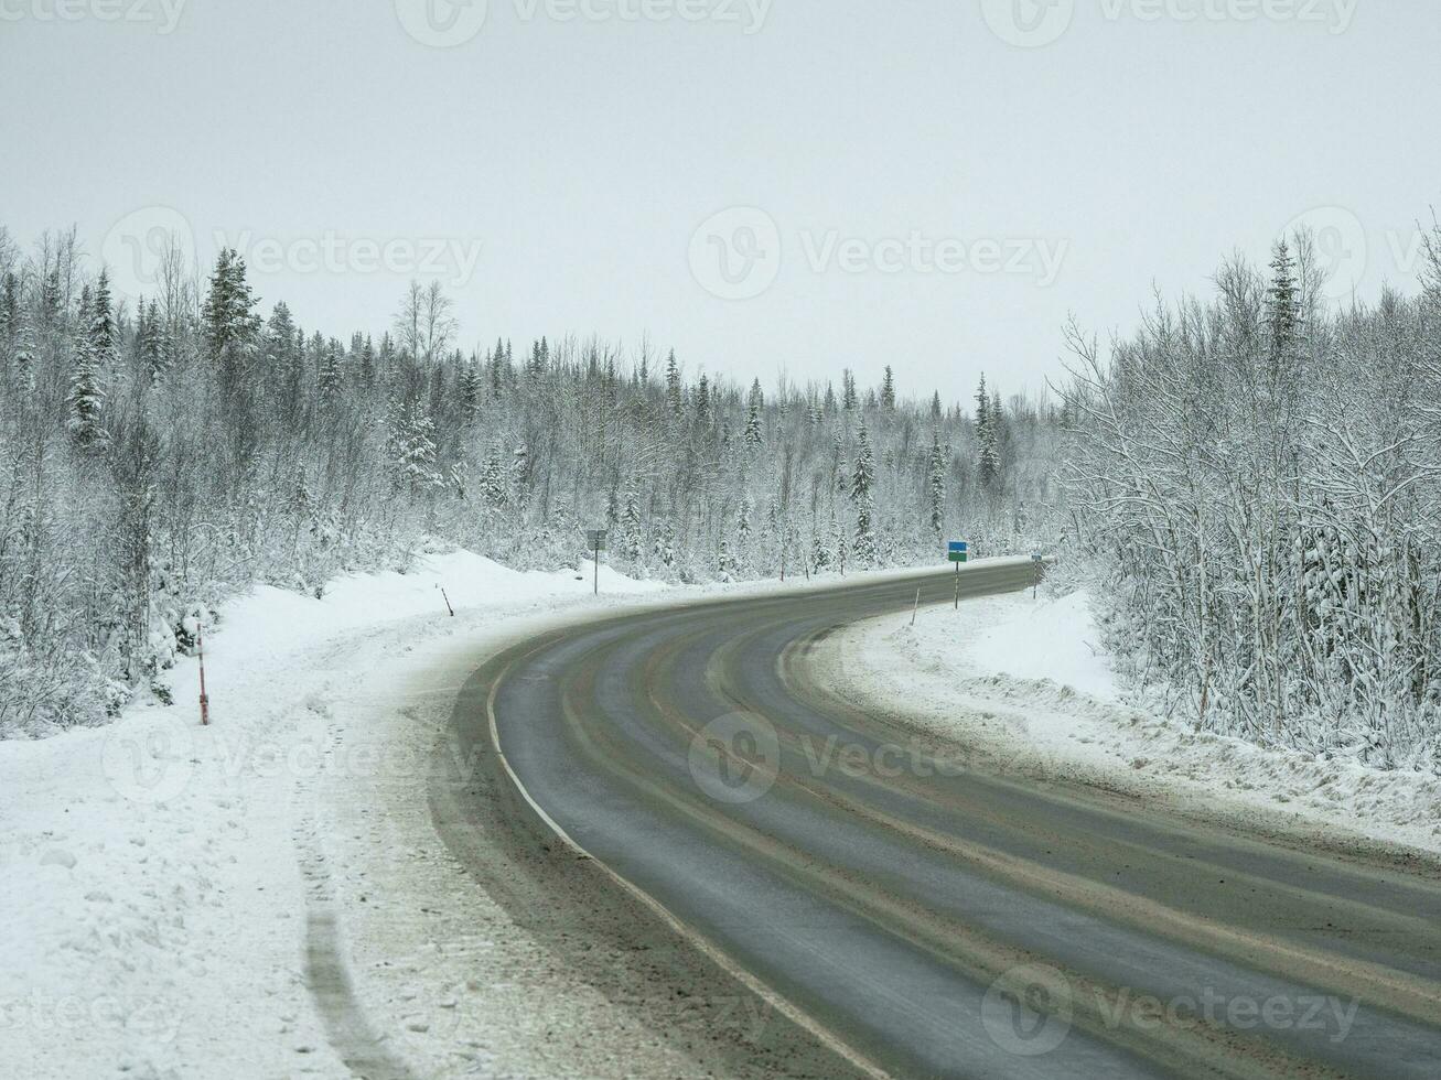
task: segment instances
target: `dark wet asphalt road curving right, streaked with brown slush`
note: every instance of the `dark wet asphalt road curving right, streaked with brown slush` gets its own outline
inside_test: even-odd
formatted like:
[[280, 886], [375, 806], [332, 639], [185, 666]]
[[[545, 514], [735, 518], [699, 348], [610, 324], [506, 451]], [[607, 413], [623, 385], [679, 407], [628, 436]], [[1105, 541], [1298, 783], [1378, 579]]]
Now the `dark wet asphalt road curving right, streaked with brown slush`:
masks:
[[[963, 596], [1030, 575], [978, 563]], [[548, 824], [863, 1068], [1441, 1076], [1435, 867], [1033, 779], [817, 685], [820, 638], [918, 588], [955, 586], [552, 634], [488, 665], [487, 721]]]

